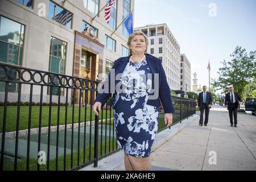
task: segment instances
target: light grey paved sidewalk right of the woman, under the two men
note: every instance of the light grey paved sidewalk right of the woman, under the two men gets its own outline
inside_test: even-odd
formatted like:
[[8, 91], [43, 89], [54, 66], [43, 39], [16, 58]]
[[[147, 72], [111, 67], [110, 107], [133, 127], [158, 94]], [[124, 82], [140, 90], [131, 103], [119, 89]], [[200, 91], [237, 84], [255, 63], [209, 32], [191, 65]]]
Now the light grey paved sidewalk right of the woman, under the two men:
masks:
[[228, 110], [214, 106], [208, 126], [197, 117], [152, 152], [151, 163], [153, 170], [256, 170], [256, 116], [239, 113], [234, 128]]

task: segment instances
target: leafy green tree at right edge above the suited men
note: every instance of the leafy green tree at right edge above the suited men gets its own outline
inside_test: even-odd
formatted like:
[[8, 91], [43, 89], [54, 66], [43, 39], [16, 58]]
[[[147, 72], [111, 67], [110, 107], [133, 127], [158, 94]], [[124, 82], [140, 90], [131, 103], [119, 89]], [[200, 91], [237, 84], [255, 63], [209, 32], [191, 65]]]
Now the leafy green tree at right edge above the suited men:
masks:
[[228, 92], [229, 86], [245, 97], [246, 85], [256, 82], [256, 51], [251, 51], [248, 55], [246, 49], [237, 46], [235, 51], [230, 55], [231, 61], [222, 61], [221, 68], [218, 69], [220, 75], [218, 79], [212, 79], [212, 85], [217, 90], [222, 89]]

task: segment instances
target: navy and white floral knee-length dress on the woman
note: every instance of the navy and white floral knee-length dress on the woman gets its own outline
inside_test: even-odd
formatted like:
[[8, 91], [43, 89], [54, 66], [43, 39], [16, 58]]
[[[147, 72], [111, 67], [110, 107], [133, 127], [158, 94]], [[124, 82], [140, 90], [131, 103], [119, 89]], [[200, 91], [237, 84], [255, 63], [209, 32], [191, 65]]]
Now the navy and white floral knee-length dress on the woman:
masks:
[[150, 155], [158, 130], [158, 107], [147, 105], [152, 78], [147, 61], [129, 61], [120, 88], [113, 101], [117, 143], [127, 155], [144, 158]]

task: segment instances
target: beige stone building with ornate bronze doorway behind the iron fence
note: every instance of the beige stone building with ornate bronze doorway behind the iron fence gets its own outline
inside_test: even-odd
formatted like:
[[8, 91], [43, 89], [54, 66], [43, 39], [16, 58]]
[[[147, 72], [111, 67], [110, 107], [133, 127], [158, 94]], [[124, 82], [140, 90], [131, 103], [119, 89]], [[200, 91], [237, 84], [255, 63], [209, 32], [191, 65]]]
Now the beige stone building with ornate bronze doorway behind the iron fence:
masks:
[[[109, 24], [105, 5], [99, 0], [0, 1], [0, 61], [96, 80], [100, 73], [109, 72], [114, 60], [129, 53], [124, 24], [115, 29], [134, 10], [134, 0], [115, 1]], [[9, 93], [17, 92], [16, 84], [9, 88]], [[40, 93], [39, 88], [34, 92]], [[23, 86], [22, 100], [28, 93]], [[48, 100], [47, 90], [44, 100]], [[36, 97], [34, 101], [38, 102]]]

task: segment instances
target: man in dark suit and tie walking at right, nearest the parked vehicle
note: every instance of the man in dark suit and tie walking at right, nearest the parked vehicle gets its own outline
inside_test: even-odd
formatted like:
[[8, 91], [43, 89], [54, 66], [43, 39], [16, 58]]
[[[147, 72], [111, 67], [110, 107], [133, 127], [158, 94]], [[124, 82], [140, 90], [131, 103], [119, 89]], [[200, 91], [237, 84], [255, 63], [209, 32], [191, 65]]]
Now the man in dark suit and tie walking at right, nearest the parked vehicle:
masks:
[[233, 86], [230, 86], [229, 93], [225, 97], [225, 107], [229, 110], [230, 126], [233, 127], [233, 115], [234, 115], [234, 127], [237, 127], [237, 109], [241, 98], [238, 93], [234, 92]]

